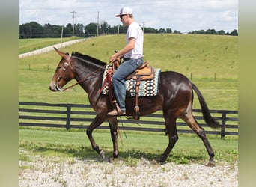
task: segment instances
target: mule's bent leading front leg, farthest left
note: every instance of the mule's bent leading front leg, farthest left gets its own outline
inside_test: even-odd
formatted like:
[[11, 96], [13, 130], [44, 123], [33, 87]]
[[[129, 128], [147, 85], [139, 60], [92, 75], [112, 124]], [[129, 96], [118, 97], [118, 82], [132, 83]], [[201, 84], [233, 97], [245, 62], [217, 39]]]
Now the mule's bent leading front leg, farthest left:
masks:
[[106, 114], [97, 114], [94, 120], [91, 122], [90, 126], [86, 129], [86, 134], [88, 135], [88, 138], [91, 142], [91, 147], [97, 151], [97, 153], [105, 158], [105, 152], [104, 150], [100, 150], [99, 146], [94, 141], [94, 137], [92, 136], [92, 132], [94, 129], [96, 129], [98, 126], [100, 126], [104, 121], [106, 120]]

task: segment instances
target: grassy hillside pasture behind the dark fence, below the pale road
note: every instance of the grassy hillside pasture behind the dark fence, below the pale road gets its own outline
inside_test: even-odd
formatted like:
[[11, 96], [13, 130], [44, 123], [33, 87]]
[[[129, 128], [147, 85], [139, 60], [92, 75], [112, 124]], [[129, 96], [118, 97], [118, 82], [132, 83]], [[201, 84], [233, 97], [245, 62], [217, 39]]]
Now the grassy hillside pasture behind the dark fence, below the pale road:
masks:
[[[125, 45], [124, 37], [124, 34], [94, 37], [61, 50], [81, 52], [107, 62], [114, 49]], [[145, 34], [144, 59], [162, 71], [175, 70], [189, 78], [192, 74], [192, 82], [203, 93], [210, 109], [237, 110], [237, 39], [215, 35]], [[60, 59], [54, 51], [19, 59], [19, 101], [88, 104], [87, 95], [79, 86], [63, 93], [49, 91], [49, 82]], [[199, 108], [197, 100], [195, 98], [194, 108]]]

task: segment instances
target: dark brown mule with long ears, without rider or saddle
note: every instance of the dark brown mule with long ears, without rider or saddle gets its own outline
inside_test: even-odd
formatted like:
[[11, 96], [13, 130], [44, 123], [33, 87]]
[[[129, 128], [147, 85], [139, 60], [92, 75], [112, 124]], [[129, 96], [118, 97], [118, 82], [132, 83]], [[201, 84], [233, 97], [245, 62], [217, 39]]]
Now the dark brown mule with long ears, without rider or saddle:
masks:
[[[100, 94], [99, 91], [103, 82], [103, 73], [106, 67], [106, 62], [93, 58], [90, 55], [83, 55], [79, 52], [61, 52], [54, 48], [58, 55], [61, 56], [61, 61], [55, 70], [54, 75], [50, 81], [49, 89], [51, 91], [64, 91], [64, 85], [72, 79], [76, 79], [75, 85], [80, 85], [88, 94], [88, 100], [91, 107], [96, 111], [96, 116], [91, 124], [86, 129], [86, 134], [91, 143], [91, 147], [96, 152], [105, 158], [104, 150], [94, 141], [92, 132], [97, 126], [100, 126], [104, 121], [108, 121], [113, 143], [113, 153], [110, 156], [113, 159], [118, 158], [118, 120], [117, 117], [109, 117], [107, 113], [112, 111], [113, 103], [109, 96]], [[159, 158], [153, 159], [151, 162], [164, 163], [171, 153], [174, 144], [178, 140], [176, 120], [180, 117], [186, 124], [198, 135], [204, 143], [204, 146], [210, 156], [208, 166], [214, 166], [214, 152], [208, 141], [204, 129], [199, 126], [198, 122], [192, 114], [193, 91], [198, 96], [201, 105], [201, 112], [204, 121], [213, 129], [220, 127], [219, 122], [210, 115], [207, 103], [203, 95], [186, 76], [174, 71], [160, 72], [159, 75], [159, 92], [156, 96], [140, 96], [138, 103], [140, 103], [141, 116], [152, 114], [155, 111], [162, 110], [165, 120], [166, 133], [168, 134], [168, 146]], [[126, 115], [132, 116], [134, 109], [135, 98], [126, 98]]]

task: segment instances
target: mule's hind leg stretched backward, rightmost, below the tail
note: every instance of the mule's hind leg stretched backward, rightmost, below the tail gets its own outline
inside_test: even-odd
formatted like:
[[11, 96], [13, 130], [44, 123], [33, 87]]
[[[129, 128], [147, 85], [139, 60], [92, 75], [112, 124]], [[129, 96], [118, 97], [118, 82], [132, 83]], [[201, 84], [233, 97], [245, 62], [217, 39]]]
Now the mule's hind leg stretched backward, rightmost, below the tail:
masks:
[[192, 116], [192, 112], [189, 111], [187, 113], [183, 113], [180, 115], [180, 118], [182, 118], [188, 126], [201, 138], [201, 140], [204, 142], [204, 146], [207, 149], [207, 152], [210, 156], [208, 166], [213, 167], [215, 165], [214, 162], [214, 152], [213, 148], [210, 146], [210, 142], [208, 141], [207, 135], [204, 132], [204, 129], [198, 125], [198, 122], [195, 120], [195, 117]]

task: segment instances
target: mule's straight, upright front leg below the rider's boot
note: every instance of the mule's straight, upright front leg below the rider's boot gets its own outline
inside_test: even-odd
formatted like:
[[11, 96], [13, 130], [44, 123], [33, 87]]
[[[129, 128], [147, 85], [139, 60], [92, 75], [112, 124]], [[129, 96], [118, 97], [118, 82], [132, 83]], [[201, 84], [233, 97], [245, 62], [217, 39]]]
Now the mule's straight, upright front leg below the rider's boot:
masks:
[[109, 158], [109, 162], [113, 162], [115, 158], [118, 158], [118, 120], [117, 117], [109, 118], [109, 129], [111, 132], [111, 138], [113, 142], [113, 157]]

